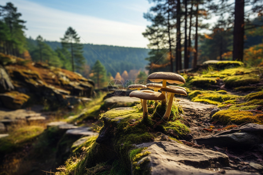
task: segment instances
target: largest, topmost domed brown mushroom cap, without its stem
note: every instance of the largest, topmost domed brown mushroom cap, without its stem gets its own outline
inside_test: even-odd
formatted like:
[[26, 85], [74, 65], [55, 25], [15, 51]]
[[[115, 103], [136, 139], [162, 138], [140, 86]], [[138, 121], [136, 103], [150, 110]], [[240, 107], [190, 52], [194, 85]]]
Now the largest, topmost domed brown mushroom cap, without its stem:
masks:
[[147, 78], [152, 82], [162, 82], [163, 80], [167, 80], [168, 83], [176, 83], [176, 84], [184, 84], [185, 79], [176, 73], [173, 72], [154, 72], [150, 74]]

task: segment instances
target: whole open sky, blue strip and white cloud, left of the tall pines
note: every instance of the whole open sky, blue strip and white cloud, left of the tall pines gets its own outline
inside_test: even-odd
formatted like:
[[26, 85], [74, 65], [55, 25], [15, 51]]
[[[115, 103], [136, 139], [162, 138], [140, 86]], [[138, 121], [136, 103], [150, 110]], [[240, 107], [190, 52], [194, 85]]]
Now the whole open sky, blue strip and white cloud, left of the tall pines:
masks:
[[1, 5], [6, 2], [12, 2], [27, 21], [27, 37], [60, 41], [71, 26], [83, 43], [145, 48], [149, 43], [142, 35], [150, 25], [143, 18], [151, 7], [147, 0], [0, 0]]

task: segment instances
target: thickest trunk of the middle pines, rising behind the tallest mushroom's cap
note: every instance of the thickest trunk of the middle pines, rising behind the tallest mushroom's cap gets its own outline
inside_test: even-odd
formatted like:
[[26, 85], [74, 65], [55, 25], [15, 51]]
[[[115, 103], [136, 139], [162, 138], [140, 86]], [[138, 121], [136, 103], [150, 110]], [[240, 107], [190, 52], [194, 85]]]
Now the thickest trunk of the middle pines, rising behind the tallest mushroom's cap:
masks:
[[176, 5], [176, 71], [182, 69], [182, 53], [181, 53], [181, 4], [180, 0], [177, 0]]

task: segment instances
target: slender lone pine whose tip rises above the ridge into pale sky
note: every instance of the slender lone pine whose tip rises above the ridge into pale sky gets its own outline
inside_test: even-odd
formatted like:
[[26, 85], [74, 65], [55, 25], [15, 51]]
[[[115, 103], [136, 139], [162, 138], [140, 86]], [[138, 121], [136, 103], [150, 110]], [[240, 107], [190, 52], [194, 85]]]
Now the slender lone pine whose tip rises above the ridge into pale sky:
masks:
[[76, 69], [81, 69], [84, 64], [83, 46], [80, 44], [80, 37], [78, 37], [77, 32], [72, 27], [69, 27], [64, 34], [64, 38], [60, 39], [62, 47], [69, 49], [71, 53], [72, 71], [75, 71], [75, 67]]

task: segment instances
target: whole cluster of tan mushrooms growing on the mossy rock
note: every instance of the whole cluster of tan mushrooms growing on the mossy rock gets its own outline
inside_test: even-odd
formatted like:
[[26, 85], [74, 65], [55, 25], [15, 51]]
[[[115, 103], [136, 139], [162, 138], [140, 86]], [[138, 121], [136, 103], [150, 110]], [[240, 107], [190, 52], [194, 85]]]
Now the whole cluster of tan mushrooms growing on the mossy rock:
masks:
[[[134, 88], [137, 90], [132, 91], [129, 96], [143, 99], [142, 106], [143, 106], [143, 118], [144, 119], [148, 117], [147, 100], [155, 100], [155, 105], [158, 104], [157, 100], [164, 100], [163, 102], [165, 104], [166, 96], [167, 96], [167, 100], [169, 101], [168, 101], [167, 109], [165, 111], [163, 119], [168, 120], [171, 114], [171, 110], [172, 110], [174, 94], [180, 94], [180, 95], [187, 96], [187, 93], [186, 93], [186, 89], [184, 89], [183, 87], [166, 86], [166, 82], [170, 84], [173, 84], [173, 83], [184, 84], [185, 79], [181, 75], [173, 73], [173, 72], [155, 72], [155, 73], [150, 74], [147, 79], [154, 83], [146, 84], [144, 89], [149, 88], [149, 89], [153, 89], [154, 91], [151, 91], [151, 90], [141, 90], [140, 91], [139, 89], [136, 88], [136, 87], [139, 87], [139, 85], [130, 85], [128, 86], [128, 89]], [[162, 84], [155, 83], [155, 82], [162, 82]], [[162, 93], [158, 92], [158, 90], [160, 90]]]

